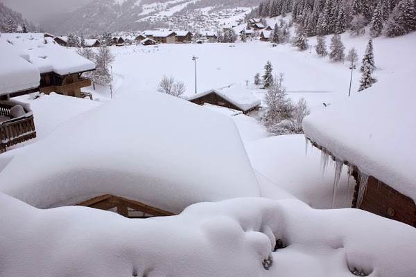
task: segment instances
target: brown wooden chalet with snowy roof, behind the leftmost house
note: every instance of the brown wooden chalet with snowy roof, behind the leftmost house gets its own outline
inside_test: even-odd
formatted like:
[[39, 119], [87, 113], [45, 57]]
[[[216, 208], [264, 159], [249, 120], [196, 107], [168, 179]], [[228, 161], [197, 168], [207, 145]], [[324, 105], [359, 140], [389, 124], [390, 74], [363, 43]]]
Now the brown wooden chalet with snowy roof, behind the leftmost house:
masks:
[[94, 62], [53, 44], [53, 39], [43, 37], [43, 34], [3, 34], [1, 39], [6, 39], [16, 48], [28, 53], [28, 61], [37, 66], [40, 72], [39, 87], [14, 91], [10, 93], [10, 97], [40, 91], [45, 94], [55, 92], [66, 96], [91, 98], [90, 93], [81, 89], [91, 85], [91, 80], [83, 77], [83, 73], [95, 70]]

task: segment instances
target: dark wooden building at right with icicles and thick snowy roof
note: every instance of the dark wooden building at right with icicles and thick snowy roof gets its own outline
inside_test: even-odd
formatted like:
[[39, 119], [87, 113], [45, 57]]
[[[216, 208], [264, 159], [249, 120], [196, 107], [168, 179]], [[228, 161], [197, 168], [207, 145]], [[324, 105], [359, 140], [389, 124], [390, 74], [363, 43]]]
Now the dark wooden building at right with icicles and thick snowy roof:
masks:
[[413, 101], [402, 101], [405, 93], [366, 90], [306, 116], [303, 129], [324, 163], [336, 161], [336, 180], [349, 167], [353, 208], [416, 227], [416, 111]]

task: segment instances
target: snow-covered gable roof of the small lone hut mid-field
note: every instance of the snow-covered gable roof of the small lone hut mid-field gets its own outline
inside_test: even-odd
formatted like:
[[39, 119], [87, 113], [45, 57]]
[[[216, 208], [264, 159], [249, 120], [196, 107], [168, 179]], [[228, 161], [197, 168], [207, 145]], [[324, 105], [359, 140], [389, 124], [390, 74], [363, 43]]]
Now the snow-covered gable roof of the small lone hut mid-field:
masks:
[[218, 94], [218, 96], [223, 97], [243, 111], [248, 111], [261, 103], [259, 98], [254, 96], [250, 89], [246, 89], [241, 84], [230, 84], [229, 86], [220, 89], [210, 89], [208, 91], [196, 93], [193, 96], [189, 96], [187, 100], [194, 100], [210, 93]]

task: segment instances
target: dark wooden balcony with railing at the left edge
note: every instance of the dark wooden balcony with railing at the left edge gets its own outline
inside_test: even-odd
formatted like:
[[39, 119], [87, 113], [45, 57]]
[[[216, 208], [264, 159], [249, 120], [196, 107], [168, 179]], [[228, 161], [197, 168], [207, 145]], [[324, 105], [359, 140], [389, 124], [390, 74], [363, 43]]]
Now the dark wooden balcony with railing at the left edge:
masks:
[[0, 102], [0, 117], [3, 119], [3, 121], [0, 121], [0, 153], [6, 152], [8, 147], [12, 145], [35, 139], [36, 137], [33, 112], [24, 109], [26, 114], [12, 118], [10, 109], [15, 105], [17, 105], [16, 102], [12, 101]]

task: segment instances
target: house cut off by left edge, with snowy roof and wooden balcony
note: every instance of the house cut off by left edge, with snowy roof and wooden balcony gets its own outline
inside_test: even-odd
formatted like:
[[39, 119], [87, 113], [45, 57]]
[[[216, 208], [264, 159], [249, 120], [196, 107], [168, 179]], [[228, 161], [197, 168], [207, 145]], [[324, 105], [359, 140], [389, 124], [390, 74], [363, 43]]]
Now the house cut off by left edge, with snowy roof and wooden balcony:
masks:
[[0, 39], [0, 153], [36, 137], [30, 106], [10, 95], [39, 87], [40, 72], [29, 55]]

